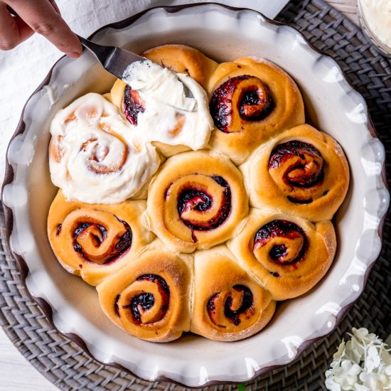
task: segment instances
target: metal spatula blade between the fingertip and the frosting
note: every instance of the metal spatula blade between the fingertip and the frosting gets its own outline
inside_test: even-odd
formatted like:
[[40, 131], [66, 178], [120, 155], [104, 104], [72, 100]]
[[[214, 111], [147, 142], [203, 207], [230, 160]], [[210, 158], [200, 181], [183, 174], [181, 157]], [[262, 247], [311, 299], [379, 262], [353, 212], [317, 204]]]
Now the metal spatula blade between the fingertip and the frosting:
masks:
[[136, 55], [128, 50], [117, 48], [116, 46], [98, 45], [80, 36], [77, 37], [80, 39], [80, 43], [95, 55], [103, 68], [119, 79], [122, 79], [124, 70], [130, 63], [146, 60], [141, 55]]

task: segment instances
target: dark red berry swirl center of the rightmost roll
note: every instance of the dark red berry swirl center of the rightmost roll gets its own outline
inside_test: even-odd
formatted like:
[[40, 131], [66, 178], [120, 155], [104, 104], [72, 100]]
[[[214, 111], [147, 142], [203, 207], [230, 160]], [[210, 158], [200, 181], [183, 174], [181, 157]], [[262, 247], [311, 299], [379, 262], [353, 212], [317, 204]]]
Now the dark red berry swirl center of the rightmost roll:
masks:
[[269, 158], [269, 173], [291, 203], [312, 203], [328, 193], [322, 186], [324, 169], [321, 153], [303, 141], [279, 144]]

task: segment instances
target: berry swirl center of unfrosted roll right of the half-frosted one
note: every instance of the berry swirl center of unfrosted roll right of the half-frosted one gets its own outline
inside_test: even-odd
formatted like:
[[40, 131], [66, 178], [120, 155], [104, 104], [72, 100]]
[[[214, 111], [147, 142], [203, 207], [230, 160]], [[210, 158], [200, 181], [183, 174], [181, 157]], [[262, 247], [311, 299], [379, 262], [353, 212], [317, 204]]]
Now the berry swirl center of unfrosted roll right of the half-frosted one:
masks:
[[221, 132], [241, 132], [243, 122], [257, 122], [274, 107], [267, 85], [258, 77], [231, 77], [213, 91], [210, 114]]

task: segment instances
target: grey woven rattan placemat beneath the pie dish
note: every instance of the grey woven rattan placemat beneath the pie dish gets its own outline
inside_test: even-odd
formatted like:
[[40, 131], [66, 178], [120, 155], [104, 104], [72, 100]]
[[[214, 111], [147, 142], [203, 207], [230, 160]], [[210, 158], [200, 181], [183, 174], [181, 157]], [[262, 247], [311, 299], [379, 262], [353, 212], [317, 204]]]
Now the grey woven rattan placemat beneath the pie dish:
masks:
[[[318, 50], [331, 55], [368, 102], [377, 133], [391, 159], [391, 64], [353, 23], [321, 0], [293, 0], [279, 14], [309, 39]], [[390, 166], [387, 176], [391, 178]], [[389, 185], [390, 186], [390, 185]], [[390, 186], [391, 187], [391, 186]], [[391, 333], [390, 215], [384, 225], [380, 258], [365, 291], [338, 328], [314, 343], [296, 363], [274, 370], [247, 384], [246, 390], [326, 390], [324, 372], [346, 332], [364, 326], [387, 338]], [[5, 240], [4, 214], [0, 211], [0, 324], [24, 357], [61, 390], [185, 390], [165, 382], [138, 380], [121, 370], [100, 365], [75, 343], [60, 336], [28, 296]], [[204, 390], [235, 390], [215, 386]]]

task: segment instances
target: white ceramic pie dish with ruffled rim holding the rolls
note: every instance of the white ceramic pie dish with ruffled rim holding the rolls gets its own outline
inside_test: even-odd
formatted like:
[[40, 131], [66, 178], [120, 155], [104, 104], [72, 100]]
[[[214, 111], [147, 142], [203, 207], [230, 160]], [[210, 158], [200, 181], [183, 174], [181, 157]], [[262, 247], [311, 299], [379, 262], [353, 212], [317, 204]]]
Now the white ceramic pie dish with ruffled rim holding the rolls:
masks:
[[151, 9], [102, 28], [92, 39], [139, 53], [182, 43], [219, 62], [255, 55], [284, 68], [304, 95], [307, 122], [333, 136], [350, 165], [348, 195], [333, 219], [336, 258], [314, 289], [279, 304], [269, 325], [243, 341], [222, 343], [188, 333], [171, 343], [150, 343], [114, 326], [100, 309], [95, 288], [60, 266], [46, 232], [48, 209], [58, 190], [48, 169], [50, 121], [60, 107], [86, 92], [107, 92], [114, 82], [85, 52], [77, 60], [62, 58], [54, 65], [28, 100], [7, 153], [7, 235], [28, 291], [60, 333], [100, 362], [146, 380], [191, 387], [246, 382], [290, 363], [335, 328], [363, 291], [380, 253], [389, 203], [385, 151], [363, 97], [336, 62], [310, 48], [294, 28], [269, 22], [255, 11], [217, 4]]

